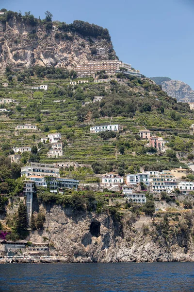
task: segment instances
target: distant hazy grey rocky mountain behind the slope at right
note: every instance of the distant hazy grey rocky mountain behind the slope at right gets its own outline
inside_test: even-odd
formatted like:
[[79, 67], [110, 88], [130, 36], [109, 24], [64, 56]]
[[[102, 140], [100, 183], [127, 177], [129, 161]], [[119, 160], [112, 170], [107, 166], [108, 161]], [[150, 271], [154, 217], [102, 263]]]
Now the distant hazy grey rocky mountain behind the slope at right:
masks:
[[162, 90], [165, 91], [169, 96], [177, 98], [178, 101], [194, 102], [194, 91], [188, 84], [182, 81], [163, 81]]

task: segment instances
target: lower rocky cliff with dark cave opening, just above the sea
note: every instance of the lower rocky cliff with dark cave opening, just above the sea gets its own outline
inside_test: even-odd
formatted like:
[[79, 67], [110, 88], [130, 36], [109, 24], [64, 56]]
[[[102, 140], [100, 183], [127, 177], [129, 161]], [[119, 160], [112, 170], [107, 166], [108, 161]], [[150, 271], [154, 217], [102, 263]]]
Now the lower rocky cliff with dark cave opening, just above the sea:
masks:
[[73, 212], [59, 205], [48, 205], [45, 210], [44, 231], [32, 232], [29, 239], [42, 242], [43, 237], [49, 238], [54, 246], [50, 255], [62, 256], [66, 262], [194, 261], [192, 214], [189, 219], [171, 216], [168, 223], [139, 218], [134, 224], [127, 210], [120, 222], [108, 213]]

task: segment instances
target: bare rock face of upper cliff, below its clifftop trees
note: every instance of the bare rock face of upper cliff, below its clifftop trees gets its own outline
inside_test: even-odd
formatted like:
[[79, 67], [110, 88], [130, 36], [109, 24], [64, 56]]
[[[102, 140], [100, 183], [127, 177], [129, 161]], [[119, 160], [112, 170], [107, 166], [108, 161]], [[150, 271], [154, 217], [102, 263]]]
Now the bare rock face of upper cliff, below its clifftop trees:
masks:
[[[18, 22], [16, 18], [0, 21], [0, 69], [34, 65], [73, 69], [87, 60], [108, 59], [108, 53], [115, 56], [109, 40], [84, 37], [78, 33], [56, 33], [57, 22], [48, 31], [41, 23], [31, 26]], [[107, 55], [92, 55], [97, 47], [105, 48]]]

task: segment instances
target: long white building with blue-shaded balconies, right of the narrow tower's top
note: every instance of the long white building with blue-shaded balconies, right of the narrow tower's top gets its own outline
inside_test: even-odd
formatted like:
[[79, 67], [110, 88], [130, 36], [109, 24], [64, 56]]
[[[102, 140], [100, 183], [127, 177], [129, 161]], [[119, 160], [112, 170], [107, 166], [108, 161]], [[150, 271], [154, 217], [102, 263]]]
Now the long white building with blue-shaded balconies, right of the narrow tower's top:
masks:
[[63, 189], [63, 188], [75, 188], [77, 190], [79, 185], [78, 180], [65, 179], [65, 178], [49, 178], [48, 186], [50, 190]]

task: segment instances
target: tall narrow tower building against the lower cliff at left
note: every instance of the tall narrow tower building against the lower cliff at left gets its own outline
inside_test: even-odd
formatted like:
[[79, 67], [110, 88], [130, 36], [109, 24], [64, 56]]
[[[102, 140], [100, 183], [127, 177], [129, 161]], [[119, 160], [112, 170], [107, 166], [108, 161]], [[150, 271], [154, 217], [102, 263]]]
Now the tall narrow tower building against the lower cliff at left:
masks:
[[27, 214], [28, 214], [28, 223], [30, 224], [31, 216], [32, 216], [32, 200], [33, 194], [35, 192], [34, 182], [31, 180], [27, 180], [24, 183], [24, 194], [26, 195], [26, 206], [27, 206]]

